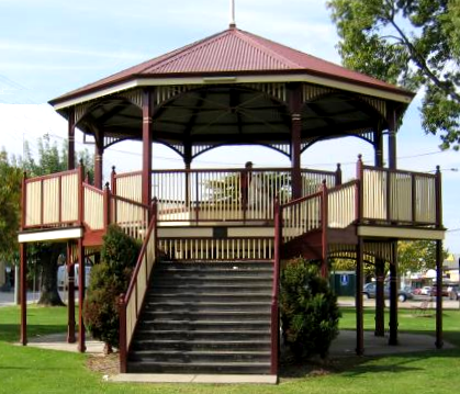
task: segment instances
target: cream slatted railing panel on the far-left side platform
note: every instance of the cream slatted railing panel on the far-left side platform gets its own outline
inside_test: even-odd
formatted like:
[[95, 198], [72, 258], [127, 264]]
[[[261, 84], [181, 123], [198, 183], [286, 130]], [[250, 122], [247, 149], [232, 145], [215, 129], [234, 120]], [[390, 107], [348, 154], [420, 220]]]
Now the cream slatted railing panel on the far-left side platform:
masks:
[[25, 179], [23, 227], [56, 226], [78, 222], [79, 170]]

